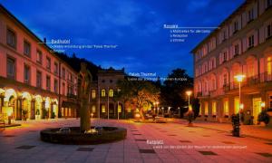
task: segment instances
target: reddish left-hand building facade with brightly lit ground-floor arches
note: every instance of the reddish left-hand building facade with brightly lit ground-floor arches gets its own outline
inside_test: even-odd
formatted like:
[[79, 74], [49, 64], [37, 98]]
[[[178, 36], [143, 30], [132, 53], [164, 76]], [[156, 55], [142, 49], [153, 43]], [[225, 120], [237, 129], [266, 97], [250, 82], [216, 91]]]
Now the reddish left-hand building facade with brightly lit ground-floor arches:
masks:
[[77, 72], [0, 5], [0, 114], [14, 120], [76, 116]]

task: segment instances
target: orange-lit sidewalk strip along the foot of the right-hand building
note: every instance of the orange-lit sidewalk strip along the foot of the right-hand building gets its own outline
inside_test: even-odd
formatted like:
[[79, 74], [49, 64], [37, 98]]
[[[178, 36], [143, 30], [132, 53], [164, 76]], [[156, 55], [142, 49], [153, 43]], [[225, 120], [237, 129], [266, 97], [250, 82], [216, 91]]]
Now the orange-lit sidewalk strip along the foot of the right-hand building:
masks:
[[[171, 120], [174, 123], [180, 123], [186, 125], [187, 120], [173, 119]], [[219, 131], [228, 132], [231, 134], [232, 126], [231, 123], [218, 123], [211, 121], [195, 120], [193, 121], [194, 126], [205, 128], [205, 129], [214, 129]], [[260, 125], [241, 125], [241, 134], [245, 137], [251, 137], [256, 139], [267, 139], [272, 141], [272, 128], [267, 128]]]

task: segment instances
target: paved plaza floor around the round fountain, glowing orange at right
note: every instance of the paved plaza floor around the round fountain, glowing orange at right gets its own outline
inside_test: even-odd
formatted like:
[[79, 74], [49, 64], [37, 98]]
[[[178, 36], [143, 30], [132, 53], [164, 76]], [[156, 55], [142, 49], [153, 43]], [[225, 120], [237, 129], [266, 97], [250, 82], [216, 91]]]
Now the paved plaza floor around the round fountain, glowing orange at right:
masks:
[[127, 139], [86, 146], [45, 143], [39, 137], [41, 129], [77, 126], [79, 120], [26, 121], [0, 131], [0, 162], [272, 162], [271, 140], [234, 138], [228, 131], [202, 128], [200, 122], [198, 127], [187, 127], [185, 121], [92, 120], [93, 124], [126, 128]]

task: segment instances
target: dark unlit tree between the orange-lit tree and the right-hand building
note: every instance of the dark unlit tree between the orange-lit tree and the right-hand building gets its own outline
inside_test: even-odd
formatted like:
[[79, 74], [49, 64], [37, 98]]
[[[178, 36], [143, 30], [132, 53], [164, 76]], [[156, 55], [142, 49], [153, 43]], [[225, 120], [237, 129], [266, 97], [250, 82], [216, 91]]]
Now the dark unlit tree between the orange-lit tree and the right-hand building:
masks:
[[180, 107], [180, 116], [187, 110], [181, 110], [182, 106], [187, 106], [187, 96], [185, 91], [192, 90], [193, 78], [191, 78], [186, 70], [175, 69], [169, 75], [168, 79], [161, 85], [160, 101], [162, 105], [171, 106], [173, 109]]

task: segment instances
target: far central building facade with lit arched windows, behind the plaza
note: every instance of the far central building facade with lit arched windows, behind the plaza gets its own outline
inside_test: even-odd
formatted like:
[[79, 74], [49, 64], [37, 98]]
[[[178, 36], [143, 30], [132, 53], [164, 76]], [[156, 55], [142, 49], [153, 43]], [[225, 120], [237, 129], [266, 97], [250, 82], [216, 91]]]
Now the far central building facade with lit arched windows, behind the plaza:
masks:
[[100, 70], [97, 73], [98, 80], [92, 82], [90, 95], [90, 111], [92, 117], [103, 119], [127, 119], [131, 118], [131, 110], [125, 109], [124, 101], [118, 99], [120, 91], [117, 82], [124, 80], [124, 70]]

